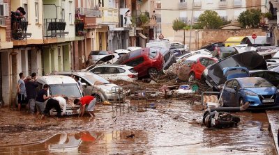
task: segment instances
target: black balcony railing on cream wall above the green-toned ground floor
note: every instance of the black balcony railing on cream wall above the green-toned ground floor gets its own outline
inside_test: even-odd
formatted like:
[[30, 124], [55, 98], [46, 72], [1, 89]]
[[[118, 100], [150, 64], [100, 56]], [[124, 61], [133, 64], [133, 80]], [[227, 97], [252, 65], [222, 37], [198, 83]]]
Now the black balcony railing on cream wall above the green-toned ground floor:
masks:
[[66, 22], [63, 19], [44, 19], [44, 37], [45, 38], [62, 38], [68, 35], [69, 32], [65, 32]]

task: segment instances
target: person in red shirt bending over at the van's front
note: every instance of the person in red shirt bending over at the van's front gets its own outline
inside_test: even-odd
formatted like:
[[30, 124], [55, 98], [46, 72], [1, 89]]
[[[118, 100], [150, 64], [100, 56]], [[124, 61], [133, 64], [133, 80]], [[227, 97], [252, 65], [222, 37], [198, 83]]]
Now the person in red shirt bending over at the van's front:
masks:
[[94, 106], [96, 104], [96, 98], [90, 95], [86, 95], [84, 97], [81, 97], [80, 99], [75, 99], [74, 104], [80, 105], [80, 116], [84, 115], [84, 111], [86, 108], [86, 111], [89, 112], [91, 117], [95, 117], [94, 114]]

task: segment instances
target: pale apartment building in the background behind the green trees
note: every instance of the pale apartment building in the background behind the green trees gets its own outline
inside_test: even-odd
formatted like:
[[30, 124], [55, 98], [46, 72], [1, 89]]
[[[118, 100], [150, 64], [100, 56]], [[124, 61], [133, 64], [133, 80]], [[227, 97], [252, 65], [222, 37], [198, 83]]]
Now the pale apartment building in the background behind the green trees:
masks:
[[[174, 41], [172, 22], [180, 19], [186, 24], [195, 24], [199, 15], [205, 10], [215, 10], [227, 21], [237, 21], [239, 15], [246, 10], [245, 0], [160, 0], [161, 33]], [[187, 43], [187, 42], [186, 42]]]

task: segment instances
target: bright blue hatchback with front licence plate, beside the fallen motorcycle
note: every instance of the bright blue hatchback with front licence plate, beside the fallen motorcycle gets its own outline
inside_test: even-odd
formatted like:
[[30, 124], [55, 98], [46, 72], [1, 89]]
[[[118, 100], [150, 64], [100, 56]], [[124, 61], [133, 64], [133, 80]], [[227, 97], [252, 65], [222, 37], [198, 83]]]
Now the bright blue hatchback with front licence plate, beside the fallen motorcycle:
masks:
[[228, 80], [221, 93], [223, 106], [242, 106], [247, 101], [250, 107], [278, 106], [279, 90], [259, 77], [245, 77]]

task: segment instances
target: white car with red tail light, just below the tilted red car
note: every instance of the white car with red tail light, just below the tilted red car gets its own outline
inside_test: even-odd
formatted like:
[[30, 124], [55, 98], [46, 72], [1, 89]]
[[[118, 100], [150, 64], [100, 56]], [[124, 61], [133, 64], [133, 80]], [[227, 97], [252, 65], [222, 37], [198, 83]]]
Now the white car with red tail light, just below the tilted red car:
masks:
[[128, 65], [92, 65], [84, 71], [98, 74], [106, 80], [136, 81], [138, 73]]

